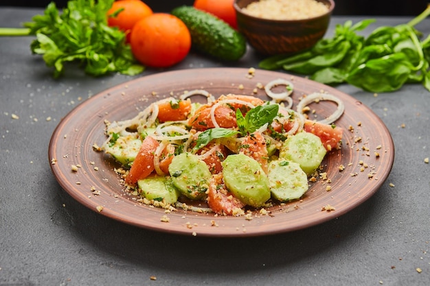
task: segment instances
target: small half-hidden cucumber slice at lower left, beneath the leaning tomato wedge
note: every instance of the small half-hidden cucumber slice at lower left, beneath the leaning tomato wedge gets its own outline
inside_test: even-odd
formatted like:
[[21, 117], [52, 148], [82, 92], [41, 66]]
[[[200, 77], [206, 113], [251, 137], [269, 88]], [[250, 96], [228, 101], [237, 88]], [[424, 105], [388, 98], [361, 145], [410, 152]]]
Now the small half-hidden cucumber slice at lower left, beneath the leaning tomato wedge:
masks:
[[172, 179], [164, 176], [151, 175], [137, 181], [141, 195], [148, 200], [174, 204], [178, 200], [179, 192], [174, 187]]

